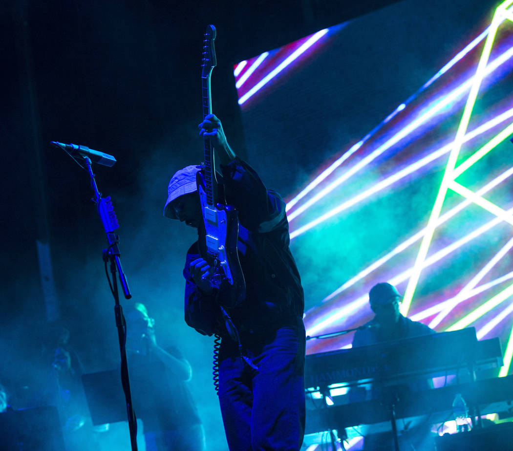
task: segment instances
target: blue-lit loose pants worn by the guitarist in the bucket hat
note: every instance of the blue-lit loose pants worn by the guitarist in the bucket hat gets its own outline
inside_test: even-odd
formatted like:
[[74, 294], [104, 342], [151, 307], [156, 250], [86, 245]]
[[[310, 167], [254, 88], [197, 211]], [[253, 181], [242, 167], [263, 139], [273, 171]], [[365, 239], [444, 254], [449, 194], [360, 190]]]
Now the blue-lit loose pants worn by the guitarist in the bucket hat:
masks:
[[245, 355], [223, 339], [219, 402], [230, 451], [297, 451], [305, 429], [305, 328], [301, 318], [241, 336]]

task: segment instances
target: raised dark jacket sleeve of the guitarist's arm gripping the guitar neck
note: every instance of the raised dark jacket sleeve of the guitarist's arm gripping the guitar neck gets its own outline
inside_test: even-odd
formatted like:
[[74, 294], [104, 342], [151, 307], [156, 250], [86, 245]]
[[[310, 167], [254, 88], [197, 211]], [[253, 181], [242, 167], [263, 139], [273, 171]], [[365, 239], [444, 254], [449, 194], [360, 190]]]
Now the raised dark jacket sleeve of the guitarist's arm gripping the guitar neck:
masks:
[[226, 202], [239, 210], [239, 221], [251, 231], [266, 233], [283, 223], [285, 202], [268, 190], [246, 162], [235, 157], [222, 167]]

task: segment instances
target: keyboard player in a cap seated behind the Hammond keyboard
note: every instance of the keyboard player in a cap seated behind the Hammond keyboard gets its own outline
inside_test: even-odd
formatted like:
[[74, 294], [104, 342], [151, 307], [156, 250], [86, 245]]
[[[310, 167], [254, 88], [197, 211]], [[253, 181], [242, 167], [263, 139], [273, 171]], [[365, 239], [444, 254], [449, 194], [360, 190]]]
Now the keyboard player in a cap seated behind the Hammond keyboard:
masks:
[[[366, 323], [366, 328], [357, 330], [354, 334], [352, 346], [367, 346], [387, 341], [401, 340], [420, 335], [435, 334], [428, 326], [401, 315], [399, 311], [402, 296], [393, 285], [378, 283], [369, 291], [369, 304], [374, 312], [374, 318]], [[419, 352], [425, 350], [419, 349]], [[382, 399], [384, 402], [390, 398], [400, 396], [402, 391], [418, 391], [432, 388], [431, 380], [417, 380], [408, 382], [402, 386], [373, 386], [370, 393], [372, 398]], [[351, 390], [351, 401], [362, 400], [365, 396], [359, 390]], [[366, 393], [366, 391], [364, 392]], [[404, 429], [404, 427], [403, 427]], [[406, 433], [400, 435], [400, 449], [416, 449], [425, 451], [433, 449], [432, 440], [429, 437], [430, 424], [412, 427]], [[365, 450], [385, 451], [392, 450], [392, 433], [368, 434], [365, 436]]]

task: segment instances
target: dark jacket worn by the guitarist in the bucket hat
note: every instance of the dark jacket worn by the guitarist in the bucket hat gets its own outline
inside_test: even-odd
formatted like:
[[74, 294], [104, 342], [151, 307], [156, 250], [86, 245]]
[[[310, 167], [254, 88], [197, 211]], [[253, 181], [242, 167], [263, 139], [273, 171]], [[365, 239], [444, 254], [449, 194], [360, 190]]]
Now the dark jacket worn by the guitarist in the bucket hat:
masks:
[[[227, 204], [239, 210], [239, 258], [246, 281], [246, 298], [229, 310], [240, 331], [279, 326], [291, 316], [302, 317], [304, 295], [298, 269], [289, 249], [285, 203], [280, 195], [267, 190], [258, 174], [235, 158], [222, 167]], [[204, 234], [204, 231], [203, 231]], [[223, 293], [205, 295], [194, 284], [189, 264], [205, 256], [199, 230], [187, 252], [184, 268], [185, 321], [204, 335], [224, 335], [220, 326]]]

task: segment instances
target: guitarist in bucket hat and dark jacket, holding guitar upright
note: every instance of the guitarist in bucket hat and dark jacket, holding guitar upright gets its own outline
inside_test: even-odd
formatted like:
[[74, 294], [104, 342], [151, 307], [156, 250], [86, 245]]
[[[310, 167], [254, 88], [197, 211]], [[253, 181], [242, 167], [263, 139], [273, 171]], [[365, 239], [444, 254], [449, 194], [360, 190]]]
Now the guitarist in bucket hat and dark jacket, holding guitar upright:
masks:
[[285, 203], [235, 155], [215, 115], [208, 114], [199, 128], [218, 153], [226, 202], [239, 212], [246, 292], [233, 306], [230, 288], [219, 284], [221, 269], [205, 259], [196, 189], [201, 167], [188, 166], [173, 175], [164, 207], [166, 217], [198, 229], [184, 268], [185, 321], [200, 334], [221, 336], [218, 394], [230, 450], [298, 450], [305, 422], [304, 298]]

